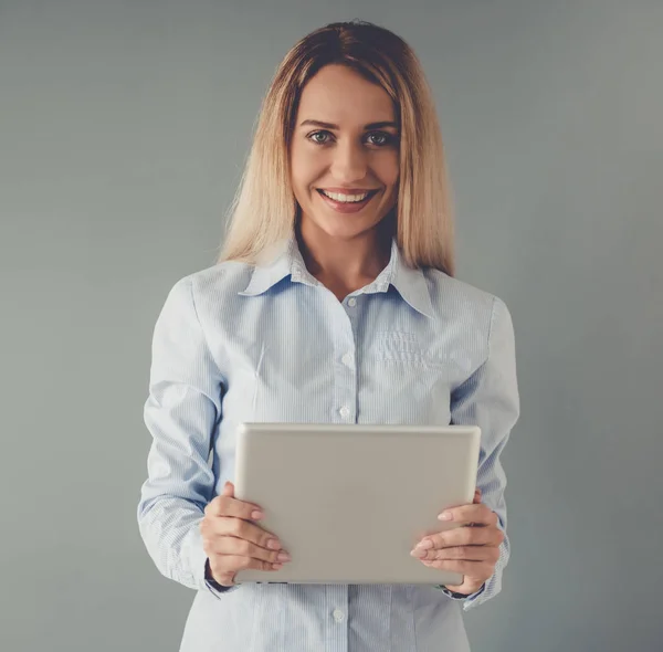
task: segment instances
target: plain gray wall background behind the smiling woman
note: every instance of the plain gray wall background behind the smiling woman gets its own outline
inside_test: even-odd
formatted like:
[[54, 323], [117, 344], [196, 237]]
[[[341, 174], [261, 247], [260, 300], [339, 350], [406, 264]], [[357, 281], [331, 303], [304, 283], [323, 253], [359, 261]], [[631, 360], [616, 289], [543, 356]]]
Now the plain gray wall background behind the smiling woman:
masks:
[[515, 322], [513, 556], [465, 617], [473, 650], [663, 649], [663, 3], [17, 0], [0, 2], [3, 651], [178, 649], [193, 593], [135, 517], [151, 330], [214, 261], [277, 62], [352, 18], [420, 55], [457, 275]]

